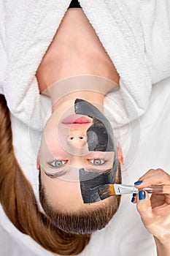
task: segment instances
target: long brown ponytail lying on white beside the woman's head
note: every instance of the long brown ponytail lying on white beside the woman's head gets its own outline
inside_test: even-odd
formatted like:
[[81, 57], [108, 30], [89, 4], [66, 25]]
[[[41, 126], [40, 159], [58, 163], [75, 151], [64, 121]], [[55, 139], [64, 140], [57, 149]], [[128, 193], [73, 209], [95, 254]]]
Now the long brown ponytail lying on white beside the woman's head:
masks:
[[0, 201], [7, 217], [22, 233], [59, 255], [77, 255], [90, 234], [66, 233], [39, 211], [31, 184], [15, 159], [9, 110], [0, 95]]

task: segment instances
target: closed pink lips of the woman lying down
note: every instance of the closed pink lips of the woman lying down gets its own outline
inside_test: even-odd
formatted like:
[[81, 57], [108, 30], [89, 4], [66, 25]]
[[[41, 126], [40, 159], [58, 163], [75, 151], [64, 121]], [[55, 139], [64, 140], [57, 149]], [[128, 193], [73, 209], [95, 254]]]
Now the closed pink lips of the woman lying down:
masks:
[[80, 115], [70, 115], [63, 118], [61, 123], [69, 125], [71, 128], [85, 127], [92, 123], [92, 118]]

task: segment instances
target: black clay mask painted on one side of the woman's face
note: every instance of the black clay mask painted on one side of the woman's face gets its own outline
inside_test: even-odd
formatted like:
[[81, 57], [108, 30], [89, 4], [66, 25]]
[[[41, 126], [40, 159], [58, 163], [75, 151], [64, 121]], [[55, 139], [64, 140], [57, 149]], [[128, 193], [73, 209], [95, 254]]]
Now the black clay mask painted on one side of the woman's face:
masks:
[[98, 108], [83, 99], [74, 102], [76, 114], [93, 118], [93, 124], [87, 131], [87, 142], [89, 151], [113, 151], [115, 159], [112, 170], [109, 173], [91, 173], [80, 168], [80, 187], [84, 203], [95, 203], [101, 200], [98, 195], [98, 186], [101, 184], [113, 184], [117, 170], [117, 154], [114, 135], [111, 124]]

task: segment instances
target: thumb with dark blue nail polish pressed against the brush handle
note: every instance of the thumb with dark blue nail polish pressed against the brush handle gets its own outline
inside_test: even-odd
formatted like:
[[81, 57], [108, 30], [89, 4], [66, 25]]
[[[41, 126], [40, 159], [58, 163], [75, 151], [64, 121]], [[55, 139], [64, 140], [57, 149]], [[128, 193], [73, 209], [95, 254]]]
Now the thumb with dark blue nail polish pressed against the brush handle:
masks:
[[152, 206], [150, 202], [150, 197], [148, 193], [144, 190], [139, 191], [137, 210], [142, 217], [142, 222], [144, 222], [144, 225], [150, 225], [153, 219]]

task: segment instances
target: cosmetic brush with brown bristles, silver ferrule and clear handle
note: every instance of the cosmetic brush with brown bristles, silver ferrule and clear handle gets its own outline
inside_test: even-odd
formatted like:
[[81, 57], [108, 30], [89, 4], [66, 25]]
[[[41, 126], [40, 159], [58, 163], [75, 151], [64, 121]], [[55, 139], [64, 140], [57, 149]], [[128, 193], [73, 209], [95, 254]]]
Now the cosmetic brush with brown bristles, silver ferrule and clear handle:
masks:
[[[169, 194], [170, 185], [144, 187], [142, 190], [145, 190], [148, 193]], [[137, 189], [133, 185], [105, 184], [98, 186], [98, 195], [100, 196], [101, 200], [104, 200], [111, 195], [133, 194], [138, 192], [139, 189]]]

